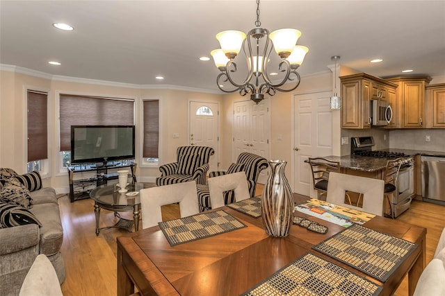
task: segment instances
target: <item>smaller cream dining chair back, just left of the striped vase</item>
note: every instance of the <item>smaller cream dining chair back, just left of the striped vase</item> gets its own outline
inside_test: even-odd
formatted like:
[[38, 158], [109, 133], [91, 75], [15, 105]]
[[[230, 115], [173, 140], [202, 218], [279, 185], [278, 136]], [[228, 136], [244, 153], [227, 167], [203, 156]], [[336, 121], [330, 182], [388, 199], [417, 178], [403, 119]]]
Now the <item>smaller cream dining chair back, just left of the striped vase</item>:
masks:
[[236, 202], [250, 198], [248, 180], [244, 172], [211, 177], [207, 182], [209, 182], [212, 209], [224, 207], [224, 193], [229, 190], [234, 191]]

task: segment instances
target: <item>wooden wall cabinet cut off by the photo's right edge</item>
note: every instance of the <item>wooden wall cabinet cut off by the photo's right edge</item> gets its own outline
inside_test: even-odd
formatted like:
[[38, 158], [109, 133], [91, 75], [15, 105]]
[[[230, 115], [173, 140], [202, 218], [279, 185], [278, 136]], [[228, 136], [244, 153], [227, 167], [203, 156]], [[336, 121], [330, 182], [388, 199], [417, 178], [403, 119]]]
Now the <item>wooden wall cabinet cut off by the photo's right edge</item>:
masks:
[[426, 128], [445, 128], [445, 83], [426, 87], [425, 117]]

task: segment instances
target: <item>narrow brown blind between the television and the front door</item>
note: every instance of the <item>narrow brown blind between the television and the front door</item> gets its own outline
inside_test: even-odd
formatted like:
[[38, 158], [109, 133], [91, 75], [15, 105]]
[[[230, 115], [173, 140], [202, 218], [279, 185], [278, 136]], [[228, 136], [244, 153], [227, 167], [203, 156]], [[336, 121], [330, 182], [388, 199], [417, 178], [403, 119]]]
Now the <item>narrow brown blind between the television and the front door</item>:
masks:
[[159, 157], [159, 100], [143, 102], [144, 148], [143, 157]]

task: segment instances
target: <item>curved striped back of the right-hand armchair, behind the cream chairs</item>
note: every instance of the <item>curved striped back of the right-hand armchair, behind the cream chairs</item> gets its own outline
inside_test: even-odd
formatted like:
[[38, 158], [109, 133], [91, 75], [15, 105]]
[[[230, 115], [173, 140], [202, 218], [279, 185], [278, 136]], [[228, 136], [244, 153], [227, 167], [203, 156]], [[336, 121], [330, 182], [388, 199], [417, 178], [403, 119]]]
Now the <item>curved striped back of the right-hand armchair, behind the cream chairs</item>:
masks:
[[253, 153], [243, 152], [238, 155], [236, 163], [244, 164], [245, 177], [251, 183], [249, 187], [250, 196], [254, 197], [259, 173], [269, 166], [267, 159]]

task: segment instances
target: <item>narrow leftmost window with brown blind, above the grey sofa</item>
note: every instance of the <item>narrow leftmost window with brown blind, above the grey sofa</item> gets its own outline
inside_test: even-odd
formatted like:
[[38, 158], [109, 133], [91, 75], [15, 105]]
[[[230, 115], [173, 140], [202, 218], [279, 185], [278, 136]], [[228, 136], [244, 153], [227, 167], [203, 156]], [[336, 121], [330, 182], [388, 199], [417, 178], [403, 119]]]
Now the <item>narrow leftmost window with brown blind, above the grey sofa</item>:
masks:
[[43, 171], [43, 160], [48, 159], [48, 94], [28, 90], [26, 94], [28, 114], [27, 171]]

